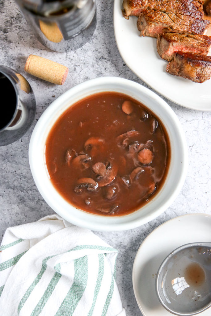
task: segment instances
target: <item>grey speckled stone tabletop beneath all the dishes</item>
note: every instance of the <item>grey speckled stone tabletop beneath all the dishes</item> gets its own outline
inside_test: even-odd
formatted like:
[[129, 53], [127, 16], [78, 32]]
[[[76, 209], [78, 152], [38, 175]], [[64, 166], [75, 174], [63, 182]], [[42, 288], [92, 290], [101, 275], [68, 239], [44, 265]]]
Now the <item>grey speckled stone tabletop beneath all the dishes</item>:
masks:
[[[1, 241], [6, 228], [53, 213], [40, 196], [28, 163], [28, 145], [34, 125], [52, 101], [76, 84], [96, 77], [118, 76], [147, 85], [127, 68], [118, 52], [113, 31], [112, 0], [97, 0], [97, 27], [92, 40], [67, 53], [51, 52], [42, 46], [34, 38], [14, 0], [0, 0], [0, 10], [0, 64], [16, 69], [28, 79], [37, 103], [35, 120], [28, 132], [15, 143], [0, 147]], [[24, 64], [29, 54], [69, 67], [65, 84], [56, 86], [25, 73]], [[189, 167], [182, 191], [171, 207], [146, 225], [126, 232], [96, 232], [119, 250], [117, 284], [127, 316], [142, 315], [132, 285], [133, 260], [141, 242], [153, 229], [173, 217], [189, 213], [211, 215], [211, 113], [189, 110], [166, 101], [181, 122], [189, 149]], [[1, 101], [2, 106], [4, 102]]]

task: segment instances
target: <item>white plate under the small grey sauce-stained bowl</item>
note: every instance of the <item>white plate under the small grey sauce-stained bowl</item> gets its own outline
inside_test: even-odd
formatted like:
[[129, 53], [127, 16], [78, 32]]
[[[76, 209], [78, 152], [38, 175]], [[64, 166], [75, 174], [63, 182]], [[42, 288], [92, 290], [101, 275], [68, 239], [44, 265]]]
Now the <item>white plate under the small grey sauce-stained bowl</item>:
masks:
[[[144, 316], [172, 316], [158, 301], [155, 277], [164, 258], [191, 242], [211, 242], [211, 216], [189, 214], [171, 219], [153, 230], [141, 244], [133, 263], [133, 290]], [[200, 313], [210, 316], [211, 308]]]

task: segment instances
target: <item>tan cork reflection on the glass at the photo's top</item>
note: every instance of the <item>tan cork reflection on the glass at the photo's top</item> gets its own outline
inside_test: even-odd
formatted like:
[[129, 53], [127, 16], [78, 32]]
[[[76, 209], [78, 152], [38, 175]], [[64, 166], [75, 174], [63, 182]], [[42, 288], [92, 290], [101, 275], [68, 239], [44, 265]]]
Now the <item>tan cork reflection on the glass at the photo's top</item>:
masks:
[[63, 35], [56, 22], [44, 22], [39, 20], [40, 30], [45, 37], [54, 43], [59, 43], [63, 39]]

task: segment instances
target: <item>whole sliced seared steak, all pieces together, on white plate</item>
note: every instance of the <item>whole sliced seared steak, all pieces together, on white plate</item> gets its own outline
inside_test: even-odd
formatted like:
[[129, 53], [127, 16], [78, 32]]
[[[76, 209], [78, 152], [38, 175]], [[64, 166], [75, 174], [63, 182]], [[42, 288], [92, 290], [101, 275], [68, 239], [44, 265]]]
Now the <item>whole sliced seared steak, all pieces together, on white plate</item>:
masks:
[[[123, 0], [123, 15], [138, 16], [140, 36], [158, 38], [157, 50], [169, 62], [166, 71], [202, 83], [211, 77], [210, 24], [203, 19], [203, 0]], [[206, 7], [211, 14], [211, 0]]]

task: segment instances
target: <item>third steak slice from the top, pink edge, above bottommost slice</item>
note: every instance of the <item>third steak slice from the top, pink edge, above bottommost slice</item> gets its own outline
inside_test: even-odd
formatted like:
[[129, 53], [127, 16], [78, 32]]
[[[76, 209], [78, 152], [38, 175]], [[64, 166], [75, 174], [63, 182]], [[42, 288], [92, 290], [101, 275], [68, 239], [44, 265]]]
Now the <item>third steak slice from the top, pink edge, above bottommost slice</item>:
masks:
[[158, 35], [157, 50], [161, 58], [172, 60], [175, 52], [190, 52], [207, 55], [211, 46], [211, 37], [187, 33], [164, 33]]

